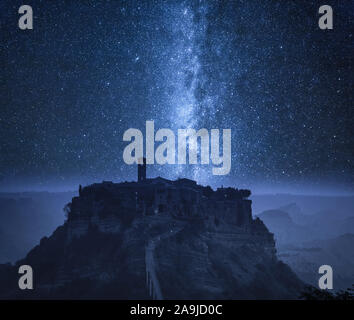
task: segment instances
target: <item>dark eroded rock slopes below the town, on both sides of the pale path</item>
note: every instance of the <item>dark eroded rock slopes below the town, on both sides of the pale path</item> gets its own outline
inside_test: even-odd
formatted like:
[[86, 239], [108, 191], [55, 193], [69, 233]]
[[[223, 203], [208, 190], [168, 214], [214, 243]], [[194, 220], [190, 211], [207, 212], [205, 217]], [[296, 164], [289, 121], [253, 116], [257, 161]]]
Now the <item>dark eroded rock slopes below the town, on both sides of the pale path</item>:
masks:
[[[166, 230], [180, 230], [161, 240]], [[201, 221], [136, 219], [119, 233], [90, 229], [70, 243], [67, 225], [43, 239], [17, 266], [3, 266], [1, 297], [150, 299], [146, 245], [164, 299], [296, 298], [302, 283], [277, 261], [269, 233], [211, 230]], [[17, 287], [18, 266], [33, 267], [35, 290]], [[7, 276], [6, 276], [7, 275]]]

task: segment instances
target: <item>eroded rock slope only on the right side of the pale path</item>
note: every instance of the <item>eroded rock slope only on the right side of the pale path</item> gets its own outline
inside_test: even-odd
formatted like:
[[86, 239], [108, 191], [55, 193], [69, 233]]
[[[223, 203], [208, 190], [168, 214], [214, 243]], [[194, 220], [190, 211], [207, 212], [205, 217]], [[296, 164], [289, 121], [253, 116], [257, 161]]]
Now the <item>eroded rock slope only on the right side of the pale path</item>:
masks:
[[289, 299], [302, 283], [275, 257], [269, 234], [195, 232], [193, 226], [157, 248], [167, 299]]

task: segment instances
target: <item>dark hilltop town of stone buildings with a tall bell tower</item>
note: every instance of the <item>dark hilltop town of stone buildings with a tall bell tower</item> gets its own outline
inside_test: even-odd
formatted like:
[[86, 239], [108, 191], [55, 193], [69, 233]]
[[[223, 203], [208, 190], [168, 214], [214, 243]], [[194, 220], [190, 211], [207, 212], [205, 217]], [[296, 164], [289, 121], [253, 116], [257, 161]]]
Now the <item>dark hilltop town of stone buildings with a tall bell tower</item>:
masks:
[[250, 194], [249, 190], [234, 188], [214, 191], [185, 178], [148, 179], [146, 161], [142, 159], [137, 182], [103, 181], [80, 186], [79, 197], [72, 199], [68, 212], [69, 237], [84, 234], [90, 226], [102, 232], [119, 232], [122, 220], [137, 216], [202, 219], [210, 224], [257, 228], [257, 222], [252, 220]]

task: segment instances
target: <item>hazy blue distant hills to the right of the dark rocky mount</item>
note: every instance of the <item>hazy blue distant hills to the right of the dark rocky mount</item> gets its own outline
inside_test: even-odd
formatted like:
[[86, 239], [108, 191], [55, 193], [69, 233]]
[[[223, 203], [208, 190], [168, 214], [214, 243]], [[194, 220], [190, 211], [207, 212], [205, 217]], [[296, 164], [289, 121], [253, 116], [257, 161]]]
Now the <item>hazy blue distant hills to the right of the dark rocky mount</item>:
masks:
[[354, 282], [354, 216], [350, 216], [354, 212], [348, 210], [348, 199], [344, 207], [336, 202], [338, 198], [333, 199], [329, 208], [323, 209], [330, 201], [317, 204], [322, 210], [313, 214], [304, 214], [298, 203], [289, 203], [258, 217], [274, 233], [278, 257], [303, 281], [317, 286], [318, 268], [329, 264], [335, 289], [346, 289]]

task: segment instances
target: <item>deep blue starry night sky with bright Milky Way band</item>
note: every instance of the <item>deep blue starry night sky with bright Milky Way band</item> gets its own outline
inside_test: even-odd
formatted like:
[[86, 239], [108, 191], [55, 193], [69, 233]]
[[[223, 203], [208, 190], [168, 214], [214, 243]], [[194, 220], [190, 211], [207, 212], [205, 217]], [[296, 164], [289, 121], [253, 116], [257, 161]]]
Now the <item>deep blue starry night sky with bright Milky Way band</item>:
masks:
[[[323, 4], [334, 30], [318, 27]], [[135, 180], [123, 133], [154, 120], [230, 128], [232, 168], [150, 177], [352, 193], [353, 18], [352, 0], [2, 0], [0, 190]]]

